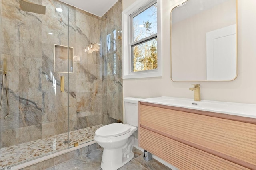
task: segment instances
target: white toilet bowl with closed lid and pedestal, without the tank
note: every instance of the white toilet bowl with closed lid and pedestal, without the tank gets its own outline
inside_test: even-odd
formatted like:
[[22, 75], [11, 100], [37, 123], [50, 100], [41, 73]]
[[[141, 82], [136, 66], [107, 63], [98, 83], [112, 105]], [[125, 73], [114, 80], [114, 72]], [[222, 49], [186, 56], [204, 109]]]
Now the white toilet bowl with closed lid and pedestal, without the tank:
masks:
[[[132, 134], [137, 129], [129, 124], [113, 123], [95, 132], [94, 140], [104, 148], [100, 166], [102, 170], [116, 170], [132, 160], [132, 146], [135, 141]], [[104, 132], [107, 133], [106, 136]]]

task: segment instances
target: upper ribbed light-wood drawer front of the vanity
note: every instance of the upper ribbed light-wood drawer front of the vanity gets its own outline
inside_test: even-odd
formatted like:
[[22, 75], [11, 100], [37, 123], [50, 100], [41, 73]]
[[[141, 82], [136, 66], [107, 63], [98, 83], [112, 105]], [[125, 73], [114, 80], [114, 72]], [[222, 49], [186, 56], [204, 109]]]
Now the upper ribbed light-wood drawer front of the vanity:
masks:
[[227, 160], [242, 161], [246, 167], [256, 167], [255, 124], [140, 105], [140, 126]]

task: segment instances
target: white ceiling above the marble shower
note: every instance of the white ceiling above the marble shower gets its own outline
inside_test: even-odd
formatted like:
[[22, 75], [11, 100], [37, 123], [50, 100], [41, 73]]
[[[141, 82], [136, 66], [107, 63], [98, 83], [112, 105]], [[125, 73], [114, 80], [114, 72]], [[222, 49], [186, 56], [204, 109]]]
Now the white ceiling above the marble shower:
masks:
[[76, 8], [102, 17], [118, 0], [59, 0]]

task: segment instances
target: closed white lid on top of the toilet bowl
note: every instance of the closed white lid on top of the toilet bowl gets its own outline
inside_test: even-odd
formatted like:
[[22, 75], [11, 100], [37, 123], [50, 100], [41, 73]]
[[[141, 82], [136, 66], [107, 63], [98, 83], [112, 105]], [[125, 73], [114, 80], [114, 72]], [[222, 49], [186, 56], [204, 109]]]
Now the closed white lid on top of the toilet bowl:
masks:
[[128, 133], [130, 129], [129, 126], [122, 123], [112, 123], [97, 129], [95, 135], [98, 137], [116, 137]]

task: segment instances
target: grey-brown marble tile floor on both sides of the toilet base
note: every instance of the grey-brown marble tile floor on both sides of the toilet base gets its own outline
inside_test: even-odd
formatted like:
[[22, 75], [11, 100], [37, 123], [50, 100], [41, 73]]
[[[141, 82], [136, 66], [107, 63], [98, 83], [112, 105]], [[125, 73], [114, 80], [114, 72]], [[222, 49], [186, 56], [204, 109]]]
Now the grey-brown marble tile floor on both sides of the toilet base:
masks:
[[[103, 149], [100, 148], [89, 154], [83, 154], [45, 170], [102, 170], [100, 168], [102, 151]], [[134, 158], [119, 168], [119, 170], [171, 170], [155, 159], [145, 161], [142, 152], [136, 148], [133, 148], [133, 152]]]

